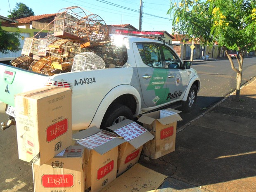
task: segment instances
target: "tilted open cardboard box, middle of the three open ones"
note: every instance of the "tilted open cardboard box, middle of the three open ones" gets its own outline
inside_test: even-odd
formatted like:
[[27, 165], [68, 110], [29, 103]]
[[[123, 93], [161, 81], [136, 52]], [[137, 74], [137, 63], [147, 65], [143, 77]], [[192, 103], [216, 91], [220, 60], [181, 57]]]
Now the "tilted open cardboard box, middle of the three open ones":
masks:
[[108, 128], [126, 140], [118, 147], [117, 176], [119, 176], [139, 161], [143, 145], [154, 136], [129, 119]]

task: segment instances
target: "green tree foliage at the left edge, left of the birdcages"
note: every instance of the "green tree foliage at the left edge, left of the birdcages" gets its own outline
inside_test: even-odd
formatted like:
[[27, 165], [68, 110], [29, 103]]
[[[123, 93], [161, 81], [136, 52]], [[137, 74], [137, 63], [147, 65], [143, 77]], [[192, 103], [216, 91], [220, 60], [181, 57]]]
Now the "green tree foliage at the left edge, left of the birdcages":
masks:
[[18, 52], [20, 50], [19, 32], [7, 32], [2, 29], [0, 24], [0, 52], [7, 54], [8, 52]]

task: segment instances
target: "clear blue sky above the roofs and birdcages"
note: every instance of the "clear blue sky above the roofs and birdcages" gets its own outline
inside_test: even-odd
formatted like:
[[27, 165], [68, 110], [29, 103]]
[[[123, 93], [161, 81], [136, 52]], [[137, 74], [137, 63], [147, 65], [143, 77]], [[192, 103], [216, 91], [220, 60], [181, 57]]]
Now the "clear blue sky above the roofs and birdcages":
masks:
[[[140, 9], [140, 0], [1, 0], [0, 15], [7, 17], [8, 11], [16, 8], [17, 2], [27, 5], [35, 15], [57, 13], [66, 7], [78, 6], [87, 10], [89, 14], [91, 12], [99, 15], [106, 24], [131, 24], [139, 29], [139, 13], [135, 11]], [[170, 15], [166, 14], [170, 7], [170, 0], [142, 0], [142, 2], [142, 11], [145, 13], [142, 17], [142, 30], [172, 33], [172, 21]], [[111, 3], [126, 9], [109, 5]], [[88, 14], [88, 12], [85, 13]]]

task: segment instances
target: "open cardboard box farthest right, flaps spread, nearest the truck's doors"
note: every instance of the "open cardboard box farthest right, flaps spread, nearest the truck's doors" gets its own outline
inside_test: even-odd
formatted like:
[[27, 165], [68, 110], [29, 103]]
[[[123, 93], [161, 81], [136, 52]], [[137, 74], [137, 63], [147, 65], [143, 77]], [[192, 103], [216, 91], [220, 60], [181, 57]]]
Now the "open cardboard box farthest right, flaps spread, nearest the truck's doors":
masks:
[[177, 121], [180, 111], [165, 109], [142, 115], [138, 121], [152, 133], [155, 138], [143, 147], [145, 156], [157, 159], [175, 150]]

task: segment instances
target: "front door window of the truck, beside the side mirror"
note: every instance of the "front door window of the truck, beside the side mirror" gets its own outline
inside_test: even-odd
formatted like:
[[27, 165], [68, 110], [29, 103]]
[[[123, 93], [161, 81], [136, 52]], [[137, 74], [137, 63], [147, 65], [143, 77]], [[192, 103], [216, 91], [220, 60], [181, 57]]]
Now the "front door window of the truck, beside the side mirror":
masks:
[[164, 52], [164, 60], [166, 62], [166, 68], [168, 69], [180, 69], [180, 59], [178, 56], [168, 47], [162, 46]]

